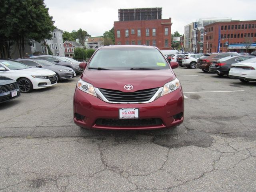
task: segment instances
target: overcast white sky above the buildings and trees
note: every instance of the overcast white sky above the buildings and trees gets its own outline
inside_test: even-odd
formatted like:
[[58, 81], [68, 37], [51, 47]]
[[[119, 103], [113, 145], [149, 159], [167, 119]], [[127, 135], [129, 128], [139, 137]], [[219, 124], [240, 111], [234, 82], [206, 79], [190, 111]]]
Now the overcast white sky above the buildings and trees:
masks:
[[256, 20], [256, 0], [44, 0], [55, 26], [63, 31], [86, 30], [101, 36], [118, 21], [118, 9], [162, 8], [162, 18], [172, 18], [172, 33], [199, 18]]

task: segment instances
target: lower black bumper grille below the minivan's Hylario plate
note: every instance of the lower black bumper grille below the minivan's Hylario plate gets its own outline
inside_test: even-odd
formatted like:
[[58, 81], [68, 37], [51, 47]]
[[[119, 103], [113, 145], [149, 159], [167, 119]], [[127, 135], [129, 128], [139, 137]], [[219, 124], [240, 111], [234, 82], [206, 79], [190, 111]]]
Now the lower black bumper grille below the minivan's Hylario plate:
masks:
[[156, 126], [162, 125], [161, 119], [97, 119], [96, 125], [103, 126], [118, 126], [118, 127], [132, 127], [132, 126]]

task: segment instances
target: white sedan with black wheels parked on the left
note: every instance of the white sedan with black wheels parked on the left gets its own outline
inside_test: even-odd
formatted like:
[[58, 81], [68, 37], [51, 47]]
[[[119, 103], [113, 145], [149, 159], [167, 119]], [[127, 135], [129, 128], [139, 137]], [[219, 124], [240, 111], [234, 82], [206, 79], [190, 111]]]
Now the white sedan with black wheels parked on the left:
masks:
[[16, 80], [23, 93], [57, 84], [55, 72], [48, 69], [29, 68], [13, 60], [0, 60], [0, 75]]

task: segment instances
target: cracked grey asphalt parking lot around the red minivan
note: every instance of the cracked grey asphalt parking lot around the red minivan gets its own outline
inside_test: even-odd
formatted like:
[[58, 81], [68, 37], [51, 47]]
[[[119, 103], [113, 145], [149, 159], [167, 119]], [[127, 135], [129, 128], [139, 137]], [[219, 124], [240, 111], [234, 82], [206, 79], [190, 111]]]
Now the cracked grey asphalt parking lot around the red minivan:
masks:
[[78, 77], [0, 106], [0, 191], [256, 191], [256, 82], [177, 68], [184, 123], [85, 130]]

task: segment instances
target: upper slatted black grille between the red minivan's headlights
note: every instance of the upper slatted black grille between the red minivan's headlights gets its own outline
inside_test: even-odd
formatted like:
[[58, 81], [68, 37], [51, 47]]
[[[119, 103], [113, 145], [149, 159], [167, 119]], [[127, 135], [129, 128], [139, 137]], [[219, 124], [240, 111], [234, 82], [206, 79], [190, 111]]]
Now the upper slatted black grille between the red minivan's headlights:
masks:
[[139, 90], [136, 92], [122, 92], [118, 90], [98, 88], [111, 102], [146, 102], [154, 96], [159, 88]]

